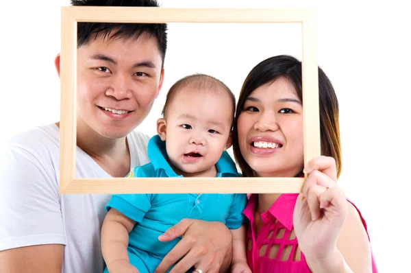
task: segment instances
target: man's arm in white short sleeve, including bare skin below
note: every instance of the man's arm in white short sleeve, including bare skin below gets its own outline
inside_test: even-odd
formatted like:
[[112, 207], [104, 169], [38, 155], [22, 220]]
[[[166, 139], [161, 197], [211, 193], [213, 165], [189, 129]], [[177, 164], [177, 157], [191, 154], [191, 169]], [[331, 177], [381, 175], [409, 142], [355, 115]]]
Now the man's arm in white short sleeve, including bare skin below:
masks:
[[58, 185], [34, 152], [8, 145], [0, 153], [0, 272], [62, 272]]

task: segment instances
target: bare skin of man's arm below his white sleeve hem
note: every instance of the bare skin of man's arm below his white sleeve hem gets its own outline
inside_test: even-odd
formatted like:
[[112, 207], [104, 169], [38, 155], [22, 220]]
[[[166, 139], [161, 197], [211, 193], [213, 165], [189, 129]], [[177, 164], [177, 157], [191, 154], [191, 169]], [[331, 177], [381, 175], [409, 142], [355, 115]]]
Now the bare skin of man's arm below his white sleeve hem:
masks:
[[0, 251], [0, 272], [61, 273], [64, 245], [25, 246]]

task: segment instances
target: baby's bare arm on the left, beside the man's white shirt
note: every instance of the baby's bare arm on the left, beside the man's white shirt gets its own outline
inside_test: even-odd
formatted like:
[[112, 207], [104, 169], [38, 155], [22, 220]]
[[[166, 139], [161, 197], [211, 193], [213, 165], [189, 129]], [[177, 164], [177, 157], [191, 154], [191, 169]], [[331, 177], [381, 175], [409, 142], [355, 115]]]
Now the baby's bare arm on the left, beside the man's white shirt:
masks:
[[101, 228], [101, 251], [109, 272], [138, 272], [129, 263], [129, 233], [136, 222], [116, 209], [110, 209]]

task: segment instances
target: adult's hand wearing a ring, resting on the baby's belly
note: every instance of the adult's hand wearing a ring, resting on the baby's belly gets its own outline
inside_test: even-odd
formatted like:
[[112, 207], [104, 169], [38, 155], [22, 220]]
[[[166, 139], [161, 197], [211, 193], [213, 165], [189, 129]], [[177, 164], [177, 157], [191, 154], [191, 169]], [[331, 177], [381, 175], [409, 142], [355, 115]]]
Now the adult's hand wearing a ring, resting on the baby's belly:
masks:
[[225, 224], [183, 219], [158, 239], [171, 241], [179, 236], [183, 238], [166, 254], [155, 273], [166, 272], [177, 261], [170, 273], [187, 272], [192, 266], [204, 273], [221, 272], [223, 261], [228, 268], [232, 257], [232, 234]]

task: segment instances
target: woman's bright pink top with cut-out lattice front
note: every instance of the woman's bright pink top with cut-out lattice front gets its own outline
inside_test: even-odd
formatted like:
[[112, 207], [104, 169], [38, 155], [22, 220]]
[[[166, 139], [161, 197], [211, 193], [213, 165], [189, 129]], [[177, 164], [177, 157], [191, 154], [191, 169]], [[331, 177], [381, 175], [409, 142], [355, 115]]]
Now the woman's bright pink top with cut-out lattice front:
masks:
[[[247, 261], [253, 273], [310, 273], [304, 254], [301, 252], [301, 257], [298, 256], [298, 242], [292, 227], [292, 214], [298, 193], [280, 195], [273, 206], [265, 213], [262, 213], [263, 225], [260, 233], [256, 236], [254, 211], [257, 197], [258, 195], [252, 194], [243, 211], [244, 215], [250, 220], [247, 232]], [[352, 204], [351, 201], [349, 202]], [[356, 207], [354, 204], [353, 206]], [[358, 213], [366, 230], [366, 223], [360, 211]], [[368, 235], [367, 230], [366, 232]], [[271, 249], [273, 245], [277, 245], [278, 248]], [[377, 273], [372, 252], [371, 256], [373, 273]]]

